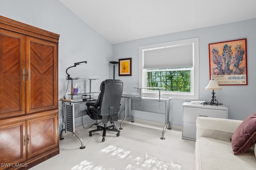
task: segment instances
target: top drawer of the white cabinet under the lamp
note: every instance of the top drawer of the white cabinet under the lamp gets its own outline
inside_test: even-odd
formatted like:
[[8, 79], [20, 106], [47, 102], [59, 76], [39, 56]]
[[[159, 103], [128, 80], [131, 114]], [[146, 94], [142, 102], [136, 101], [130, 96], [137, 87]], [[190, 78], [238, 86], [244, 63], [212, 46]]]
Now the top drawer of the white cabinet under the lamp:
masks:
[[197, 107], [183, 107], [183, 121], [196, 123], [196, 118], [199, 116], [227, 119], [227, 111]]

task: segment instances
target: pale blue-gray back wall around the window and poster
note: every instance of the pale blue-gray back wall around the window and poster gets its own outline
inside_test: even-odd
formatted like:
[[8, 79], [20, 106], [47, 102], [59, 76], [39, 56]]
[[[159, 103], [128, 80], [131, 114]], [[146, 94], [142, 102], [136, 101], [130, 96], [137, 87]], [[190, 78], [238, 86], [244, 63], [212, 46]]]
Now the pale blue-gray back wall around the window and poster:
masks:
[[[235, 39], [247, 39], [247, 66], [248, 85], [221, 86], [221, 91], [216, 91], [217, 100], [228, 107], [228, 118], [243, 120], [248, 115], [256, 112], [256, 76], [255, 71], [255, 47], [256, 47], [256, 19], [245, 20], [236, 23], [217, 25], [202, 29], [148, 37], [125, 43], [114, 44], [114, 60], [122, 58], [132, 58], [132, 76], [118, 76], [124, 82], [124, 93], [138, 94], [138, 90], [133, 87], [138, 86], [138, 47], [155, 43], [176, 41], [199, 37], [200, 55], [200, 87], [199, 100], [210, 102], [211, 92], [204, 90], [207, 86], [209, 76], [209, 51], [208, 44]], [[190, 100], [172, 99], [170, 102], [170, 122], [174, 125], [182, 123], [182, 103]], [[154, 113], [140, 113], [132, 111], [134, 117], [148, 120], [163, 121], [164, 118]]]

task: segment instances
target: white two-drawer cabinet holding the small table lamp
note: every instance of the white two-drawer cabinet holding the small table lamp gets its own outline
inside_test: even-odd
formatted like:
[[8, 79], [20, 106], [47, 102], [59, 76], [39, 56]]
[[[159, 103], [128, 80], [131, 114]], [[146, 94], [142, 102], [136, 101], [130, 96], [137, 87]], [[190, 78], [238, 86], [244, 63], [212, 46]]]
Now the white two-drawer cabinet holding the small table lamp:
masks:
[[194, 105], [184, 102], [182, 139], [196, 141], [196, 118], [199, 116], [228, 119], [228, 108], [224, 105]]

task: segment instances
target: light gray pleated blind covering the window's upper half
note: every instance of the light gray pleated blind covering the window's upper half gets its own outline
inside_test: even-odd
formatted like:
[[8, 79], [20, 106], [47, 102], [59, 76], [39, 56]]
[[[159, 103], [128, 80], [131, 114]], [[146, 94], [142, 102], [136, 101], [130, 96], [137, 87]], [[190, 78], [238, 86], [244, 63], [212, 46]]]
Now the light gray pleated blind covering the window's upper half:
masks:
[[143, 69], [193, 67], [193, 43], [143, 51]]

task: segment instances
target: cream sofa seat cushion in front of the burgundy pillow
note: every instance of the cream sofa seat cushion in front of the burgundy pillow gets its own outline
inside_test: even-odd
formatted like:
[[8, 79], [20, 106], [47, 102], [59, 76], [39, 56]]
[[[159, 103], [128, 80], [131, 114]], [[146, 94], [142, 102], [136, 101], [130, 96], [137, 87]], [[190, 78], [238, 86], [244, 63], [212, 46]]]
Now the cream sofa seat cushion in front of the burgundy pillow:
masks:
[[253, 170], [255, 167], [253, 148], [234, 155], [230, 142], [207, 137], [196, 140], [194, 170]]

